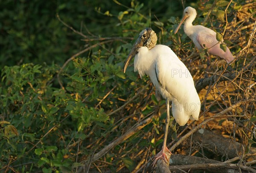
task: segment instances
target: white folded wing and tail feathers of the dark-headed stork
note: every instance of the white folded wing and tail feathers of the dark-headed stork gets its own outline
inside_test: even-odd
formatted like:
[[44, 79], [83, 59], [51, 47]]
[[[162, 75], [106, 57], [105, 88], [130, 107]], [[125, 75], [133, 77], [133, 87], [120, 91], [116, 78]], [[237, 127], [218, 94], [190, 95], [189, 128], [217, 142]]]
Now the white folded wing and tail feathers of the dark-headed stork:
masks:
[[200, 99], [195, 90], [193, 78], [183, 62], [170, 48], [162, 51], [163, 54], [156, 59], [155, 68], [161, 85], [160, 92], [164, 94], [167, 91], [172, 95], [173, 116], [178, 124], [185, 125], [191, 116], [193, 119], [198, 119], [201, 108]]

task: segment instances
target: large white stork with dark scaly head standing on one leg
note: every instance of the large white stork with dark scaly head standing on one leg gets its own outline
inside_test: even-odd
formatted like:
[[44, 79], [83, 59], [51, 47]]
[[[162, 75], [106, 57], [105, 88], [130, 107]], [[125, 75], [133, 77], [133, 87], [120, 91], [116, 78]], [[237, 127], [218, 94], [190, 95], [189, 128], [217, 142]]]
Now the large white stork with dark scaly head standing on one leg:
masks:
[[151, 28], [145, 28], [131, 49], [124, 65], [124, 73], [131, 59], [134, 58], [134, 71], [140, 77], [147, 74], [153, 85], [166, 99], [167, 116], [163, 147], [154, 157], [153, 166], [158, 159], [167, 162], [165, 151], [169, 127], [169, 101], [172, 101], [172, 115], [179, 125], [185, 125], [190, 119], [198, 120], [201, 103], [189, 70], [176, 54], [166, 45], [156, 45], [157, 35]]

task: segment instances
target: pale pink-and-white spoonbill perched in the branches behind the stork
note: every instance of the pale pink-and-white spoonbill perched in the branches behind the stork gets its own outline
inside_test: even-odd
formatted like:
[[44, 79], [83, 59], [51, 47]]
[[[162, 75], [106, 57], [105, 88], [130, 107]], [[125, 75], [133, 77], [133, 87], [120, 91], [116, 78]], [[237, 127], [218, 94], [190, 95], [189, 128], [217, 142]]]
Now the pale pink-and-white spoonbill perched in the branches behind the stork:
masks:
[[174, 33], [177, 33], [181, 24], [184, 22], [183, 29], [185, 34], [189, 36], [189, 38], [193, 41], [193, 43], [199, 50], [204, 48], [205, 46], [208, 49], [209, 54], [221, 57], [226, 60], [227, 63], [233, 61], [234, 57], [230, 52], [230, 49], [227, 47], [227, 50], [225, 52], [220, 48], [220, 43], [216, 39], [215, 31], [201, 25], [192, 25], [192, 22], [195, 20], [196, 15], [197, 13], [194, 8], [186, 7], [183, 12], [183, 18], [180, 24], [175, 29]]

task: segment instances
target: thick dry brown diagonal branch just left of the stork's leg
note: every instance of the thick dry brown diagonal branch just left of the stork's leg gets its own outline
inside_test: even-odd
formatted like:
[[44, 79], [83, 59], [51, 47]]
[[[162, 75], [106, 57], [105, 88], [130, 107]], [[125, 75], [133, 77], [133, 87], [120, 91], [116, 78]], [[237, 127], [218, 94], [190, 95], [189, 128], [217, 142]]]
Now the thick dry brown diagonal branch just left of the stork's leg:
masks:
[[[119, 145], [121, 142], [124, 142], [126, 139], [128, 139], [129, 137], [134, 135], [137, 131], [139, 131], [140, 129], [144, 128], [146, 125], [148, 125], [148, 123], [151, 122], [154, 114], [151, 113], [151, 115], [148, 115], [148, 116], [149, 117], [144, 119], [143, 121], [137, 122], [137, 124], [133, 128], [131, 128], [130, 130], [128, 130], [124, 135], [122, 135], [119, 138], [115, 139], [113, 142], [111, 142], [109, 145], [105, 146], [98, 153], [94, 154], [92, 159], [91, 159], [91, 162], [95, 162], [97, 159], [99, 159], [102, 156], [104, 156], [113, 147], [115, 147], [116, 145]], [[81, 163], [85, 163], [85, 167], [86, 167], [86, 163], [87, 162], [88, 162], [88, 160], [84, 160]], [[84, 167], [80, 167], [78, 172], [81, 173], [83, 171], [83, 169], [84, 169]]]

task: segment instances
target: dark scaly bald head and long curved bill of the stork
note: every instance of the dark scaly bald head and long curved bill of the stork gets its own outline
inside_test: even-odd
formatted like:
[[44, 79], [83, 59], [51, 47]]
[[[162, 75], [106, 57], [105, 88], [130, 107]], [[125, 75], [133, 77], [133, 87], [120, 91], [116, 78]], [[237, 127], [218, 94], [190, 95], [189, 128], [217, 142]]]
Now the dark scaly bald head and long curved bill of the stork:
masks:
[[146, 46], [148, 50], [150, 50], [151, 48], [154, 48], [156, 44], [157, 44], [157, 34], [151, 28], [143, 29], [140, 32], [136, 43], [133, 45], [133, 48], [131, 49], [131, 52], [127, 60], [125, 61], [124, 73], [131, 59], [138, 53], [139, 48]]

